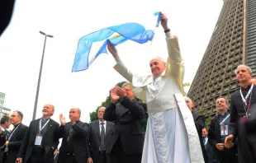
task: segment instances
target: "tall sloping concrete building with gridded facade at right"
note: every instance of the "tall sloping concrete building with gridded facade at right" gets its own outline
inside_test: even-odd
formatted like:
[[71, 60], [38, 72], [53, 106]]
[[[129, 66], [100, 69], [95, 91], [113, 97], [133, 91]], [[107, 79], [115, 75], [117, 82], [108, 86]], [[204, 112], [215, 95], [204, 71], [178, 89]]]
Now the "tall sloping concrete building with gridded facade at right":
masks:
[[246, 64], [256, 74], [256, 1], [224, 0], [211, 40], [187, 93], [197, 110], [216, 114], [216, 98], [238, 89], [235, 68]]

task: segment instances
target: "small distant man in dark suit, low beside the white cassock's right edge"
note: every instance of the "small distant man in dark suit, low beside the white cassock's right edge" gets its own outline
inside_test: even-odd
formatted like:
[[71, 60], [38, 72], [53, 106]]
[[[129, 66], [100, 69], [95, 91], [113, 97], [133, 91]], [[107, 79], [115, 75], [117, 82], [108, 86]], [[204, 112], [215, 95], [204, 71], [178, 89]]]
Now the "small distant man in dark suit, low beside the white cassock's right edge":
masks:
[[206, 153], [208, 156], [208, 163], [219, 163], [219, 161], [216, 157], [215, 149], [211, 146], [207, 135], [208, 135], [207, 128], [202, 128], [201, 136], [202, 136], [203, 144], [206, 148]]

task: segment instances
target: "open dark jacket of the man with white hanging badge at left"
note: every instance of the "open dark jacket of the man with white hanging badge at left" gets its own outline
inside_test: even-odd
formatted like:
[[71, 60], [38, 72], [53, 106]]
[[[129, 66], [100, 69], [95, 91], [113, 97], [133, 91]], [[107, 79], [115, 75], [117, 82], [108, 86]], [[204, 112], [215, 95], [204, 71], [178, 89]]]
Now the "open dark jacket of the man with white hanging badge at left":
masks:
[[[31, 156], [33, 147], [35, 146], [36, 134], [39, 132], [40, 119], [31, 121], [31, 124], [26, 132], [26, 135], [21, 144], [20, 151], [17, 157], [24, 158], [22, 162], [26, 163]], [[45, 163], [54, 162], [54, 151], [58, 147], [59, 139], [57, 137], [57, 130], [59, 128], [59, 123], [50, 119], [49, 123], [43, 129], [43, 140], [45, 148]]]

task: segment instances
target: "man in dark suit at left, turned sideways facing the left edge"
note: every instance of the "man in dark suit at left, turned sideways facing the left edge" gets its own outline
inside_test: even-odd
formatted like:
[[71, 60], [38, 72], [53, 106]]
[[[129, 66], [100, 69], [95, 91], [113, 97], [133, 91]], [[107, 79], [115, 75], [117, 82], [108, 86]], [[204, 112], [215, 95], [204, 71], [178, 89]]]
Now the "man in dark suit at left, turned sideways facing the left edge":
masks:
[[23, 114], [20, 111], [14, 111], [11, 115], [10, 121], [14, 128], [7, 137], [5, 147], [2, 149], [4, 151], [2, 163], [16, 162], [17, 154], [20, 150], [21, 143], [28, 129], [27, 126], [21, 123], [22, 119]]

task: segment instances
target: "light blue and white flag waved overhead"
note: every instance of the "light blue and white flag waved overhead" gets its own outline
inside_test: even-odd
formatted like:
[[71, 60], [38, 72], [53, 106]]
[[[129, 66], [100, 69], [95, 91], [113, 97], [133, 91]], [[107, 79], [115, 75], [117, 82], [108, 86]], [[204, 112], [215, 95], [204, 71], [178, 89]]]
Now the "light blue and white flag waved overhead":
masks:
[[[155, 12], [154, 16], [158, 16], [156, 26], [159, 26], [160, 12]], [[119, 34], [120, 36], [110, 38], [111, 35], [115, 33]], [[126, 42], [126, 40], [132, 40], [136, 43], [145, 44], [149, 40], [152, 40], [153, 37], [153, 30], [145, 30], [144, 26], [141, 26], [139, 23], [135, 22], [125, 23], [118, 26], [110, 26], [103, 28], [102, 30], [92, 32], [89, 35], [85, 35], [78, 41], [78, 49], [75, 54], [72, 72], [79, 72], [88, 69], [98, 55], [107, 54], [107, 40], [116, 46], [117, 44]], [[92, 44], [102, 40], [105, 40], [105, 42], [102, 44], [102, 47], [98, 50], [97, 54], [90, 54]], [[89, 55], [93, 55], [90, 60]]]

